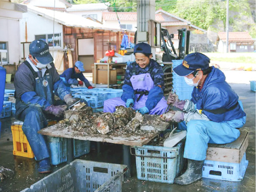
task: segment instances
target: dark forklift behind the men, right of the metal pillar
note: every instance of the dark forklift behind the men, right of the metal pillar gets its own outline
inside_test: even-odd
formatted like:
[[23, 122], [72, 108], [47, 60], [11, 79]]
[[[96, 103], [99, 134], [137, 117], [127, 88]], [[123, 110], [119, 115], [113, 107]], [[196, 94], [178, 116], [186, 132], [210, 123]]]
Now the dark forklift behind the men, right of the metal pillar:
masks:
[[[172, 90], [172, 61], [173, 60], [183, 60], [185, 56], [189, 53], [189, 35], [190, 31], [187, 29], [178, 29], [179, 34], [179, 46], [178, 54], [175, 51], [175, 48], [172, 43], [173, 34], [169, 34], [167, 29], [161, 29], [161, 37], [163, 45], [163, 72], [164, 72], [164, 95], [168, 95]], [[167, 46], [168, 45], [168, 46]], [[169, 49], [171, 47], [171, 49]]]

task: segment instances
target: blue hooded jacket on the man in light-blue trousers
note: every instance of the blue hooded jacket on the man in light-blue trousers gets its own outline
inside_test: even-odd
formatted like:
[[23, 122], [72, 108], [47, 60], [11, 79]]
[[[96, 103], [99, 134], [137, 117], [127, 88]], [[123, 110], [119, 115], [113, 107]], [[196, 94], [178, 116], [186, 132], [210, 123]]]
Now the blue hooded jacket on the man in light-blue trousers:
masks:
[[[202, 110], [211, 121], [222, 122], [242, 118], [245, 115], [238, 105], [238, 95], [225, 81], [223, 72], [215, 67], [207, 75], [202, 90], [194, 87], [192, 99], [198, 110]], [[233, 109], [233, 107], [235, 107]], [[207, 110], [231, 109], [225, 113], [214, 114]]]

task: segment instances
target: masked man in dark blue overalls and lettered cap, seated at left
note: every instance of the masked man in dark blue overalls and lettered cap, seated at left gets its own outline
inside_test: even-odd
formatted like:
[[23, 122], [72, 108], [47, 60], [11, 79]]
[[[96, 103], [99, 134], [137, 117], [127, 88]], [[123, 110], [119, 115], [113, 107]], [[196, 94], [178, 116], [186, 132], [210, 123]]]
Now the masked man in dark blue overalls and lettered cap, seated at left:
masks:
[[[16, 118], [23, 121], [22, 130], [39, 161], [38, 172], [48, 173], [51, 172], [49, 149], [44, 136], [37, 132], [47, 126], [46, 119], [62, 117], [64, 110], [77, 99], [72, 98], [60, 79], [47, 43], [35, 40], [29, 45], [29, 52], [14, 78]], [[54, 100], [53, 91], [61, 99], [59, 103]]]

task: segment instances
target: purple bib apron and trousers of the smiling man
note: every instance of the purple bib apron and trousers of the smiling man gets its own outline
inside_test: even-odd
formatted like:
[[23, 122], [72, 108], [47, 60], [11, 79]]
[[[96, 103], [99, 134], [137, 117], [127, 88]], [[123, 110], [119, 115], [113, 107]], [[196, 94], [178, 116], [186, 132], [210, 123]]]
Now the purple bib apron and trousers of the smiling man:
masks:
[[[140, 94], [143, 91], [145, 93], [150, 91], [154, 87], [153, 79], [151, 78], [149, 73], [140, 74], [140, 75], [133, 75], [130, 78], [132, 83], [133, 90], [139, 92], [139, 94], [135, 94], [136, 99], [134, 101], [133, 109], [137, 110], [141, 107], [146, 106], [146, 101], [148, 99], [148, 95]], [[140, 97], [140, 98], [139, 98]], [[139, 99], [138, 99], [139, 98]], [[112, 98], [104, 101], [104, 112], [113, 113], [115, 111], [116, 106], [125, 106], [125, 102], [120, 98]], [[164, 97], [157, 103], [154, 109], [149, 111], [150, 115], [161, 115], [164, 113], [167, 107], [167, 102], [165, 101]]]

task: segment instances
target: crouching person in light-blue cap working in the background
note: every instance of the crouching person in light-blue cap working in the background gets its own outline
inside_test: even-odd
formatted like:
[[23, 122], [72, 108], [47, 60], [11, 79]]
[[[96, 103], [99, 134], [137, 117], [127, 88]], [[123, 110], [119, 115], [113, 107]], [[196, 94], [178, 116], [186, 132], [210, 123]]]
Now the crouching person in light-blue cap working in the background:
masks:
[[[94, 87], [89, 83], [89, 81], [83, 75], [84, 63], [81, 61], [76, 61], [73, 68], [66, 69], [61, 75], [60, 78], [63, 80], [64, 84], [68, 87], [71, 85], [83, 85], [88, 89], [93, 89]], [[80, 81], [77, 80], [80, 79]]]

